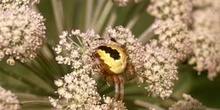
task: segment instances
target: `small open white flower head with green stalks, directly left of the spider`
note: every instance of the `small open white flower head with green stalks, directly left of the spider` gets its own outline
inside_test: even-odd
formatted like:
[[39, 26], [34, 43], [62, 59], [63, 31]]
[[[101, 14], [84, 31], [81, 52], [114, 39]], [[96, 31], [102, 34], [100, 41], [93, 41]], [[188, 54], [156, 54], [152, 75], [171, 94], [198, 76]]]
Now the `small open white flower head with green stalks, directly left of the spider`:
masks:
[[[73, 30], [72, 32], [64, 31], [60, 35], [59, 44], [54, 48], [57, 53], [56, 60], [59, 64], [70, 65], [74, 69], [80, 69], [87, 67], [87, 71], [92, 70], [90, 56], [86, 53], [85, 43], [82, 42], [83, 37], [92, 38], [92, 34], [97, 36], [92, 30], [88, 30], [86, 33], [80, 33], [79, 30]], [[74, 41], [73, 39], [76, 39]]]

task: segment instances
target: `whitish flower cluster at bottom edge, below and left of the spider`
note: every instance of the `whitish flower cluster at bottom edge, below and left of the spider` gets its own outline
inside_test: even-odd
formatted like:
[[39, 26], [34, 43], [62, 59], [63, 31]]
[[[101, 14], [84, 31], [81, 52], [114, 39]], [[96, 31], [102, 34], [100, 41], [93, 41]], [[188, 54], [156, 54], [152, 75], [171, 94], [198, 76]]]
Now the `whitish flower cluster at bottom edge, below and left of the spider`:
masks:
[[55, 84], [58, 87], [59, 99], [49, 99], [58, 109], [91, 110], [100, 103], [101, 97], [97, 92], [96, 82], [83, 69], [65, 75], [62, 80], [56, 80]]

